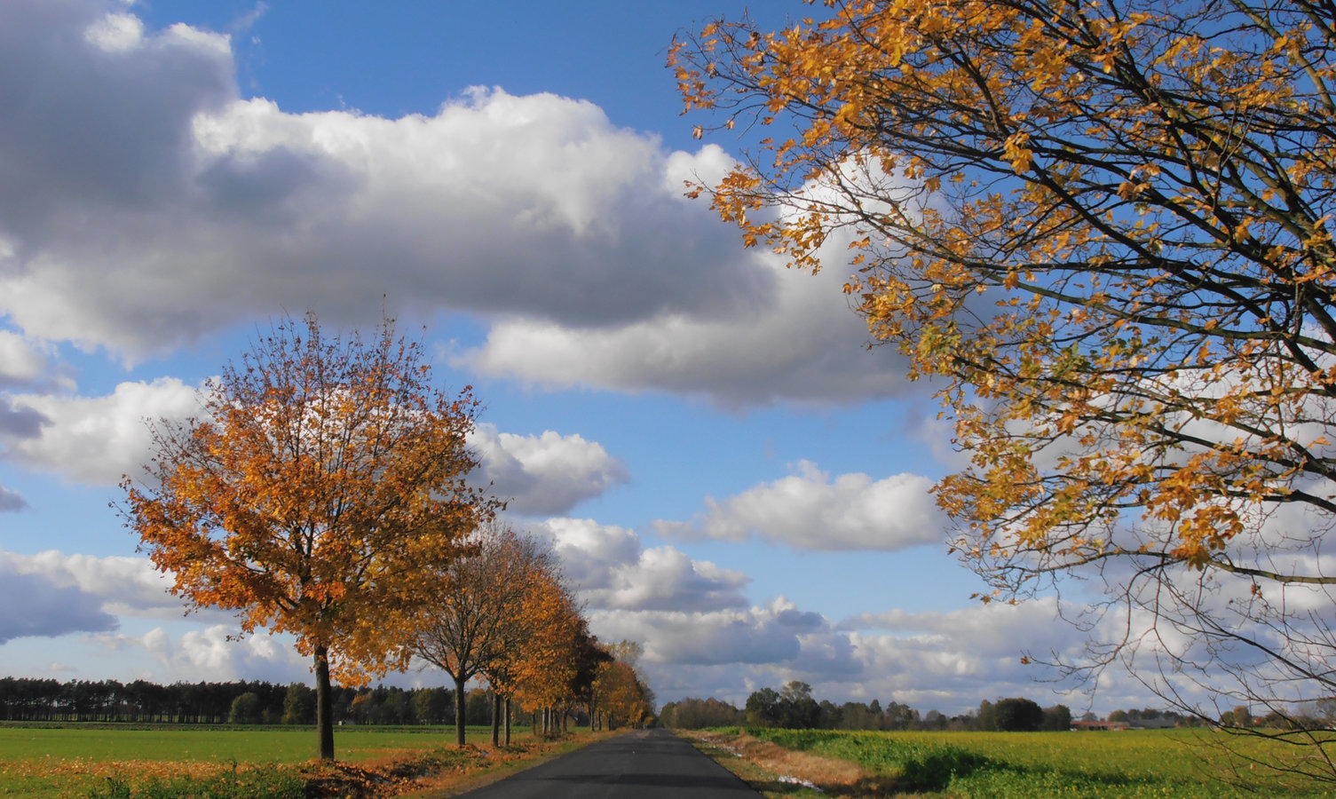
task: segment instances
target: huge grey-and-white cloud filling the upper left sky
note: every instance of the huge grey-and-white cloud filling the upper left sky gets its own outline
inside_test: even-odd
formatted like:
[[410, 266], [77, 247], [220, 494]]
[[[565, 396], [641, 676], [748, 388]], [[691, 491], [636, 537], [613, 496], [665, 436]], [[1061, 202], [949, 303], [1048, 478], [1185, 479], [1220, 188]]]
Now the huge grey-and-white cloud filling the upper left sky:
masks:
[[[0, 8], [0, 314], [136, 359], [282, 309], [466, 311], [460, 365], [728, 406], [903, 391], [840, 291], [744, 250], [596, 106], [473, 88], [432, 115], [246, 99], [226, 35], [110, 0]], [[12, 335], [12, 331], [11, 331]], [[9, 346], [0, 338], [0, 350]], [[27, 361], [16, 369], [27, 370]]]

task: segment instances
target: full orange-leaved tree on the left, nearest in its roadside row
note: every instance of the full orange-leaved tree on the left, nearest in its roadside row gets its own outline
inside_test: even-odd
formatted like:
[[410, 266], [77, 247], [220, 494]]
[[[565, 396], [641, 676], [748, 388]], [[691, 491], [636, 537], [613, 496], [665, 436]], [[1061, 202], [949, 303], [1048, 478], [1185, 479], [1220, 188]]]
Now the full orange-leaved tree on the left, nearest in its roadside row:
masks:
[[402, 669], [422, 580], [466, 552], [496, 502], [465, 478], [476, 402], [432, 383], [421, 346], [382, 323], [329, 335], [278, 323], [203, 390], [202, 412], [152, 426], [126, 478], [140, 549], [192, 607], [287, 632], [313, 659], [319, 756], [334, 758], [330, 680]]

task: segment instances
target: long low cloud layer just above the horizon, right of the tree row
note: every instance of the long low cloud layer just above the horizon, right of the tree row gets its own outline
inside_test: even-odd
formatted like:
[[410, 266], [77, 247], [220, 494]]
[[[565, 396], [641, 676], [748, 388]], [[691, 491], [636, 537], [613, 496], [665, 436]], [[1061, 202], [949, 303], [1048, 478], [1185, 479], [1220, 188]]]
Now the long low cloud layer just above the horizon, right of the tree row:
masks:
[[[591, 627], [604, 640], [645, 645], [641, 663], [661, 701], [713, 695], [741, 707], [752, 691], [802, 680], [816, 699], [878, 699], [955, 715], [999, 696], [1083, 707], [1086, 699], [1071, 685], [1050, 684], [1051, 672], [1021, 660], [1021, 641], [1046, 647], [1045, 653], [1082, 652], [1086, 633], [1054, 624], [1055, 613], [1055, 603], [1042, 600], [890, 611], [836, 624], [778, 597], [709, 612], [595, 611]], [[1110, 669], [1100, 700], [1113, 703], [1106, 709], [1153, 701], [1137, 688]]]

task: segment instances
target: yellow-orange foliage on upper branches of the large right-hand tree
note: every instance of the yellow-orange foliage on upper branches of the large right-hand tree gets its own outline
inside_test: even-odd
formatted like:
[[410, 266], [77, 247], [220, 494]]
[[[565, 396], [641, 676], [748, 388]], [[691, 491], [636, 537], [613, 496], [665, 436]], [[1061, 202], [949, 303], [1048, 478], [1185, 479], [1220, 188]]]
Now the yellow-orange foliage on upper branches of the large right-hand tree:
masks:
[[[745, 57], [700, 56], [737, 107], [795, 128], [715, 208], [796, 265], [863, 224], [843, 291], [961, 421], [973, 465], [938, 497], [975, 544], [1096, 557], [1112, 536], [1073, 529], [1146, 524], [1205, 563], [1299, 480], [1295, 430], [1331, 418], [1331, 325], [1300, 321], [1311, 351], [1267, 335], [1336, 281], [1312, 91], [1336, 68], [1301, 31], [1220, 15], [1244, 35], [1212, 49], [1122, 3], [886, 0], [778, 36], [725, 25]], [[1275, 366], [1291, 358], [1323, 366]]]

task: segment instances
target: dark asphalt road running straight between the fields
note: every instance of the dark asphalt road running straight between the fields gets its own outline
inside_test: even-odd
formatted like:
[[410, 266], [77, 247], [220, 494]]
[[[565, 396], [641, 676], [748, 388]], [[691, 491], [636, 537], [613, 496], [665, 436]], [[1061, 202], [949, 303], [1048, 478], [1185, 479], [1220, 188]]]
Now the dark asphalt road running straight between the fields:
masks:
[[663, 730], [589, 744], [458, 799], [759, 799], [731, 771]]

